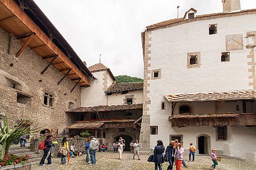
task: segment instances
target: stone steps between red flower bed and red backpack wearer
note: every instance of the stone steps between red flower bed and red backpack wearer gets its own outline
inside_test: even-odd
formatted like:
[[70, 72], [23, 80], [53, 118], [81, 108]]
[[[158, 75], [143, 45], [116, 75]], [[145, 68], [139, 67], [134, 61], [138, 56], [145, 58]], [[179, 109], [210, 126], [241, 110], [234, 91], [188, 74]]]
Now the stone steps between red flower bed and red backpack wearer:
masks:
[[36, 162], [41, 160], [41, 154], [35, 154], [29, 149], [30, 143], [26, 143], [26, 147], [20, 147], [20, 144], [12, 145], [9, 148], [9, 153], [16, 154], [17, 156], [24, 156], [25, 154], [31, 156], [30, 161]]

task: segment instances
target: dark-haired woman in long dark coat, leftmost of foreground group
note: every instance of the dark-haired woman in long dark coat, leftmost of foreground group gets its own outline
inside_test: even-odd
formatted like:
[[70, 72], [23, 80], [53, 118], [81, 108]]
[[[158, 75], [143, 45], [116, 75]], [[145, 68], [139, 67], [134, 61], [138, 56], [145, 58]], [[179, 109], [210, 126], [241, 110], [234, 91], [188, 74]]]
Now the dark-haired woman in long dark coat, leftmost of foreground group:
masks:
[[162, 140], [157, 140], [156, 146], [154, 149], [154, 159], [155, 160], [155, 170], [157, 170], [157, 166], [159, 167], [159, 170], [162, 170], [161, 164], [164, 163], [164, 156], [162, 156], [162, 153], [165, 152], [164, 144], [162, 143]]

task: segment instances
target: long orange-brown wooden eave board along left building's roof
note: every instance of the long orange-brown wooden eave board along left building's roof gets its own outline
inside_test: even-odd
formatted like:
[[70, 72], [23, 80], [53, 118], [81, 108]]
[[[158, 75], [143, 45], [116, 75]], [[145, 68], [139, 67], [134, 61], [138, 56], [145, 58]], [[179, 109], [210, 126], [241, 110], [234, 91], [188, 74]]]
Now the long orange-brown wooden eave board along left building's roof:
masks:
[[[75, 64], [65, 55], [63, 52], [50, 40], [48, 36], [45, 35], [43, 31], [17, 6], [17, 4], [10, 0], [0, 0], [12, 12], [18, 20], [20, 20], [24, 25], [35, 33], [35, 36], [39, 38], [54, 54], [58, 54], [58, 58], [62, 60], [73, 72], [78, 75], [83, 83], [83, 85], [90, 85], [90, 80], [87, 79], [85, 75], [77, 68]], [[7, 31], [8, 32], [8, 31]], [[35, 48], [36, 50], [36, 48]], [[53, 63], [54, 64], [54, 63]]]

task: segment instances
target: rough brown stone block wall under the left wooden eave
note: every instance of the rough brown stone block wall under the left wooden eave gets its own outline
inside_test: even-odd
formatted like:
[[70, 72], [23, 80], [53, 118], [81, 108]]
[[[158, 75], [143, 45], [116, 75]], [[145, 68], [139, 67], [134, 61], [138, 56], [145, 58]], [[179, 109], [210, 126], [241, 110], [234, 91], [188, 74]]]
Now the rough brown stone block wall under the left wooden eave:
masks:
[[[75, 83], [68, 77], [57, 85], [63, 73], [53, 66], [41, 75], [48, 62], [29, 47], [15, 57], [23, 43], [11, 35], [9, 50], [9, 36], [0, 28], [0, 113], [7, 115], [11, 126], [17, 124], [17, 120], [28, 119], [32, 128], [47, 128], [53, 134], [62, 132], [75, 121], [74, 116], [64, 111], [68, 110], [69, 102], [74, 107], [80, 106], [80, 87], [76, 86], [70, 93]], [[53, 107], [44, 105], [45, 91], [53, 95]], [[17, 103], [18, 93], [29, 98], [29, 103]]]

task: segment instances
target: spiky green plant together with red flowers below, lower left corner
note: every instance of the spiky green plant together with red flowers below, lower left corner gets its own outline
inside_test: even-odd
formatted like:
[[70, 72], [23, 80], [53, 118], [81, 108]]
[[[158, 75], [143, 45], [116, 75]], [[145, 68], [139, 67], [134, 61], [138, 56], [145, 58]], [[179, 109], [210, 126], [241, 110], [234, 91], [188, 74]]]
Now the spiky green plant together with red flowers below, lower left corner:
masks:
[[0, 115], [3, 122], [0, 123], [1, 133], [0, 133], [0, 144], [2, 145], [0, 165], [7, 166], [10, 164], [26, 163], [29, 161], [30, 156], [16, 156], [14, 154], [9, 154], [9, 148], [15, 140], [20, 139], [21, 135], [29, 135], [35, 132], [39, 132], [39, 128], [30, 129], [30, 127], [24, 126], [22, 123], [12, 130], [8, 127], [8, 121], [6, 115]]

